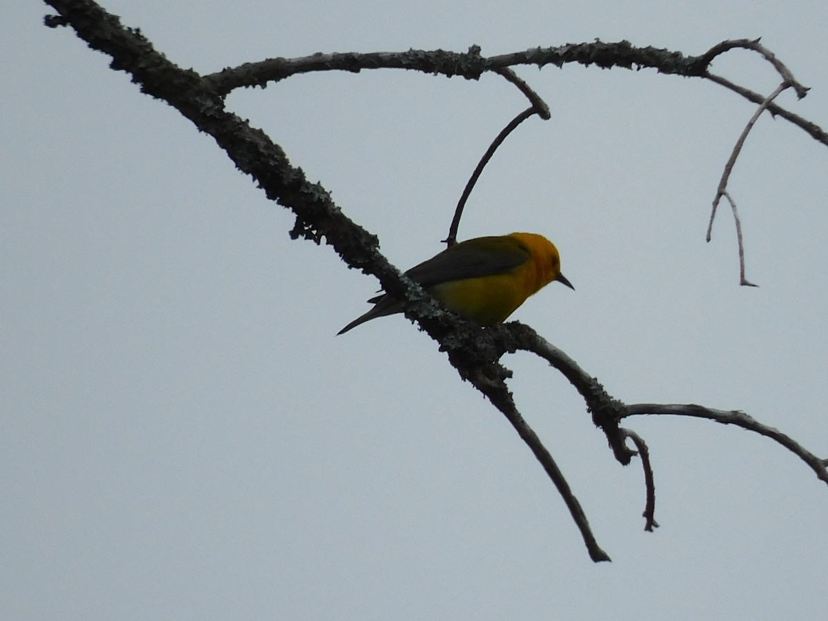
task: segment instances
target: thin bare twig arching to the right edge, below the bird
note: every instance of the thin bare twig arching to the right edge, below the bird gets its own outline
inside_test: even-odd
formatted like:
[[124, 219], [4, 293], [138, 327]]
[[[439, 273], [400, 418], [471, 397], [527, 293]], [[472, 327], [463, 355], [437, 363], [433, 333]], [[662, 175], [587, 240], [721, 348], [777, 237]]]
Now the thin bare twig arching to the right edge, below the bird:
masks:
[[753, 417], [748, 416], [739, 410], [714, 410], [710, 407], [697, 406], [695, 404], [676, 405], [676, 404], [660, 404], [660, 403], [633, 403], [626, 407], [626, 416], [653, 416], [653, 415], [673, 415], [673, 416], [694, 416], [696, 418], [707, 418], [710, 421], [720, 422], [723, 425], [735, 425], [754, 431], [760, 436], [765, 436], [771, 440], [777, 441], [790, 450], [794, 455], [797, 455], [802, 461], [811, 467], [816, 473], [818, 479], [828, 484], [828, 460], [821, 460], [808, 450], [805, 450], [796, 440], [787, 436], [773, 427], [763, 425], [756, 421]]

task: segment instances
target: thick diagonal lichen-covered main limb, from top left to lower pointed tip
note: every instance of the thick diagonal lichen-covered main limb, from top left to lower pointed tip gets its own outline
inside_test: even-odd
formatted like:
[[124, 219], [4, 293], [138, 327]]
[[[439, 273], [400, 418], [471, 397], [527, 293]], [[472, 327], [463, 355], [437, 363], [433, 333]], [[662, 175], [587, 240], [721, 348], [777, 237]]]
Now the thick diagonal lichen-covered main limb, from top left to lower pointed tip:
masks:
[[[417, 320], [426, 333], [440, 343], [460, 377], [483, 392], [512, 423], [546, 473], [556, 484], [584, 537], [594, 561], [609, 561], [590, 531], [566, 479], [549, 452], [514, 407], [505, 379], [511, 372], [493, 357], [493, 339], [478, 326], [444, 310], [426, 291], [402, 276], [378, 251], [377, 239], [354, 224], [330, 199], [319, 184], [310, 184], [301, 169], [287, 161], [281, 147], [264, 132], [224, 110], [224, 102], [209, 82], [194, 71], [185, 71], [157, 53], [137, 31], [120, 26], [117, 17], [104, 12], [90, 0], [48, 0], [61, 13], [52, 25], [69, 24], [89, 46], [113, 56], [113, 68], [127, 71], [143, 92], [163, 99], [189, 118], [200, 131], [213, 136], [240, 171], [252, 176], [271, 200], [296, 213], [292, 238], [305, 237], [330, 244], [349, 267], [378, 277], [383, 289], [403, 300], [409, 319]], [[100, 34], [103, 32], [103, 35]], [[170, 83], [185, 88], [171, 89]]]

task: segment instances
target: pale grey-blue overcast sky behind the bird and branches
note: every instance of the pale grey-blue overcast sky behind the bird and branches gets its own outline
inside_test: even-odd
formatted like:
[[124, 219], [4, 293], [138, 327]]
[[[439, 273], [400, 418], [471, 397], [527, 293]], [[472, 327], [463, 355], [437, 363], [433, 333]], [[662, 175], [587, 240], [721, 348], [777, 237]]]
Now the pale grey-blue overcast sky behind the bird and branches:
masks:
[[[628, 39], [700, 54], [762, 36], [828, 128], [824, 2], [105, 2], [205, 73], [273, 56], [485, 55]], [[518, 405], [613, 558], [589, 560], [503, 416], [401, 316], [335, 337], [377, 282], [211, 138], [141, 94], [48, 8], [0, 37], [0, 618], [817, 619], [828, 489], [770, 440], [639, 418], [657, 484], [617, 464], [584, 403], [528, 354]], [[771, 92], [737, 51], [717, 72]], [[552, 108], [508, 139], [460, 237], [561, 250], [514, 315], [627, 402], [739, 408], [828, 455], [828, 148], [760, 119], [729, 190], [738, 286], [710, 200], [753, 105], [654, 70], [519, 68]], [[232, 94], [398, 267], [440, 250], [479, 156], [527, 103], [399, 70]]]

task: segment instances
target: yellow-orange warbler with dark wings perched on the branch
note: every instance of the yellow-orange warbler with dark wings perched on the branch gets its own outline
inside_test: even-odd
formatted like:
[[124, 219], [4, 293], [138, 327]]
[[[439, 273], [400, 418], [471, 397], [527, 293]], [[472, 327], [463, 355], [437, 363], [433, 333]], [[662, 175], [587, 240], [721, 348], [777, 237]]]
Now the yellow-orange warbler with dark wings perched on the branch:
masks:
[[[552, 281], [575, 289], [561, 274], [555, 244], [536, 233], [467, 239], [412, 267], [406, 276], [479, 325], [505, 321]], [[339, 330], [340, 335], [376, 317], [402, 312], [400, 302], [387, 293], [368, 302], [373, 308]]]

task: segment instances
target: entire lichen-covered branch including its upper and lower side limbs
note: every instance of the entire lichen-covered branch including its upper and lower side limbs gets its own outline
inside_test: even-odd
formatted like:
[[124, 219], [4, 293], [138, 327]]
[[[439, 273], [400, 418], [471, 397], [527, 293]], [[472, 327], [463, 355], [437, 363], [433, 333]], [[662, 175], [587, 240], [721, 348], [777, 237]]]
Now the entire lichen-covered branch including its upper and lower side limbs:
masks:
[[[167, 60], [152, 47], [140, 31], [123, 27], [118, 17], [103, 11], [91, 0], [46, 0], [46, 2], [60, 13], [59, 16], [46, 17], [47, 26], [74, 28], [78, 36], [87, 41], [89, 47], [110, 55], [113, 59], [112, 68], [123, 70], [131, 75], [132, 81], [139, 85], [142, 92], [169, 103], [185, 118], [190, 119], [200, 132], [213, 137], [219, 147], [228, 153], [235, 166], [251, 176], [262, 187], [269, 200], [276, 200], [291, 209], [296, 214], [296, 222], [290, 233], [291, 238], [302, 237], [315, 243], [321, 243], [324, 240], [339, 254], [346, 265], [373, 274], [385, 291], [402, 301], [406, 316], [416, 321], [422, 330], [425, 330], [440, 344], [440, 350], [448, 355], [450, 363], [460, 373], [460, 377], [468, 380], [475, 388], [483, 392], [489, 401], [498, 407], [500, 412], [503, 412], [518, 435], [530, 446], [533, 454], [542, 463], [546, 473], [549, 474], [564, 498], [584, 537], [590, 557], [594, 561], [609, 560], [609, 556], [595, 542], [583, 510], [555, 461], [517, 411], [512, 394], [506, 385], [506, 379], [511, 377], [511, 371], [500, 363], [505, 353], [524, 349], [546, 359], [553, 367], [560, 370], [584, 397], [588, 410], [592, 412], [595, 425], [604, 431], [616, 459], [621, 464], [627, 465], [633, 455], [642, 457], [645, 462], [645, 479], [647, 479], [645, 516], [648, 525], [655, 526], [652, 518], [655, 494], [652, 470], [647, 460], [646, 444], [633, 431], [619, 427], [619, 421], [634, 414], [700, 416], [725, 424], [743, 426], [745, 429], [771, 437], [792, 450], [814, 469], [821, 480], [828, 483], [828, 472], [826, 472], [828, 460], [817, 459], [788, 436], [753, 421], [742, 412], [721, 412], [700, 406], [652, 404], [625, 406], [610, 397], [597, 379], [587, 375], [574, 360], [560, 349], [547, 343], [528, 326], [512, 323], [481, 329], [445, 310], [421, 286], [403, 276], [379, 253], [378, 239], [345, 216], [331, 200], [325, 188], [320, 184], [310, 183], [300, 168], [291, 166], [281, 147], [272, 142], [264, 132], [250, 127], [248, 123], [224, 108], [225, 95], [239, 86], [263, 86], [268, 81], [315, 70], [359, 71], [396, 67], [449, 76], [461, 75], [467, 79], [477, 79], [485, 71], [497, 71], [517, 84], [518, 88], [527, 95], [532, 101], [532, 113], [537, 112], [544, 116], [544, 114], [548, 115], [548, 108], [544, 112], [545, 104], [541, 106], [538, 103], [540, 98], [536, 100], [537, 96], [525, 84], [522, 86], [522, 81], [517, 79], [508, 67], [512, 65], [538, 65], [540, 67], [547, 64], [561, 66], [568, 62], [598, 65], [604, 68], [612, 66], [652, 67], [666, 74], [705, 77], [728, 85], [726, 80], [707, 73], [710, 60], [725, 51], [724, 49], [712, 48], [700, 57], [686, 57], [678, 52], [657, 50], [652, 47], [635, 48], [627, 41], [619, 43], [595, 41], [595, 43], [568, 44], [556, 48], [535, 48], [488, 59], [479, 54], [477, 47], [470, 48], [466, 54], [412, 50], [373, 55], [312, 55], [294, 60], [266, 60], [262, 63], [224, 70], [219, 74], [201, 76], [193, 70], [183, 70]], [[724, 42], [724, 44], [727, 43], [729, 42]], [[768, 58], [768, 55], [765, 57]], [[768, 60], [773, 62], [770, 58]], [[736, 90], [747, 99], [753, 100], [755, 95], [741, 87], [728, 85], [728, 88]], [[759, 98], [757, 103], [762, 102], [763, 98]], [[772, 113], [782, 116], [789, 114], [783, 114], [782, 108], [778, 108], [773, 103], [768, 102], [765, 105]], [[792, 120], [795, 115], [786, 118]], [[792, 122], [797, 123], [795, 120]], [[805, 128], [804, 125], [801, 127]], [[806, 131], [818, 130], [812, 133], [815, 137], [824, 135], [819, 128], [816, 130], [814, 128], [816, 126]], [[828, 141], [824, 139], [821, 142], [828, 145]], [[638, 453], [626, 445], [627, 438], [632, 439], [637, 445]]]

